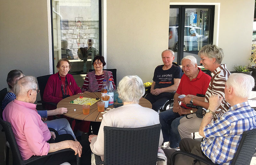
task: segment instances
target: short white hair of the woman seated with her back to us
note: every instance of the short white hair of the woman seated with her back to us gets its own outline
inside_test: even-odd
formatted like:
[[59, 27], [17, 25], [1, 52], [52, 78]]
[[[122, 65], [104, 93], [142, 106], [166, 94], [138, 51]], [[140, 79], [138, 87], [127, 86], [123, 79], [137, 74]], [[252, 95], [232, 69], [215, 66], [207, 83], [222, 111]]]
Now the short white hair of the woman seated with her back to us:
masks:
[[119, 98], [124, 102], [139, 103], [145, 94], [145, 87], [141, 78], [137, 75], [124, 76], [117, 88]]

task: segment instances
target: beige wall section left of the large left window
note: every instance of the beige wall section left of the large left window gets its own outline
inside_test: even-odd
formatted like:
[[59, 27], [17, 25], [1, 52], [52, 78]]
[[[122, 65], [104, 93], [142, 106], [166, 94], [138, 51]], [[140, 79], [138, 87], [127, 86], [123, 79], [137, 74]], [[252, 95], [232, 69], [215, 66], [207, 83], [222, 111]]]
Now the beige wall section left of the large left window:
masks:
[[50, 73], [49, 2], [0, 1], [0, 90], [8, 87], [6, 77], [12, 69], [20, 69], [25, 75], [36, 77]]

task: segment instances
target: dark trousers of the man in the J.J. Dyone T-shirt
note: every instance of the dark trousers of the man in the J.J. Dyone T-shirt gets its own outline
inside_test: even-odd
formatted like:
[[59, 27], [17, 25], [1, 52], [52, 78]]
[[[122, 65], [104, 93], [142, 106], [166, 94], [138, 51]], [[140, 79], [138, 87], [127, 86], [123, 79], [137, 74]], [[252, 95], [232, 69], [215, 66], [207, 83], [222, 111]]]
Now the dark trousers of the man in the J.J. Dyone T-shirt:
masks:
[[164, 104], [167, 103], [168, 100], [172, 99], [173, 96], [174, 93], [168, 92], [160, 93], [157, 96], [148, 93], [145, 98], [152, 104], [152, 109], [159, 113]]

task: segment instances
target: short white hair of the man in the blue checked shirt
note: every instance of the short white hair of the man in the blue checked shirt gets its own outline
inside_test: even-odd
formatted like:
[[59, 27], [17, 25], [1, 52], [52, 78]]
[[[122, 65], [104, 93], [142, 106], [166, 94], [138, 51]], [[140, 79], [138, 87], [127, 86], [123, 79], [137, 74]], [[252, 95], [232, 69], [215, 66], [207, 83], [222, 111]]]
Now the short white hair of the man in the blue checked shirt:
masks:
[[254, 78], [243, 73], [233, 73], [228, 77], [226, 86], [233, 87], [237, 97], [248, 98], [254, 87]]

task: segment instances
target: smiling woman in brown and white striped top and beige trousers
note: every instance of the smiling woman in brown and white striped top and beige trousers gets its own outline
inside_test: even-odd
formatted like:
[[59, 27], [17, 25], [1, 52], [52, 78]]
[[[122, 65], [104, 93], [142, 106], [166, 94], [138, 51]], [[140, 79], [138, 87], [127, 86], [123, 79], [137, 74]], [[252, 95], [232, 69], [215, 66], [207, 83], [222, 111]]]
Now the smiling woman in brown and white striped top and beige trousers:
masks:
[[[222, 114], [228, 111], [230, 105], [225, 100], [225, 83], [230, 75], [230, 72], [227, 69], [226, 64], [221, 64], [221, 61], [224, 57], [223, 50], [216, 45], [205, 45], [199, 52], [198, 56], [200, 57], [200, 63], [203, 64], [205, 69], [210, 70], [212, 73], [211, 82], [206, 91], [205, 98], [197, 97], [194, 95], [187, 95], [181, 101], [185, 104], [195, 104], [202, 106], [208, 109], [209, 106], [209, 97], [213, 94], [220, 95], [223, 97], [219, 109], [215, 112], [213, 119], [216, 120]], [[182, 118], [180, 120], [180, 125], [178, 130], [180, 133], [180, 138], [192, 138], [191, 133], [197, 132], [199, 130], [202, 118], [197, 118], [196, 116], [191, 119]]]

